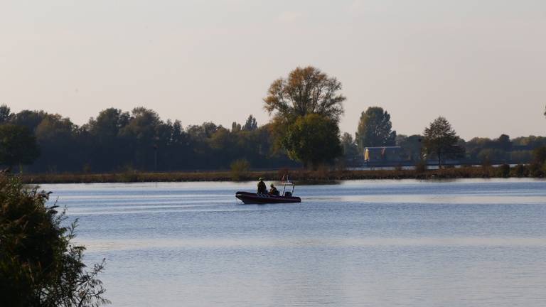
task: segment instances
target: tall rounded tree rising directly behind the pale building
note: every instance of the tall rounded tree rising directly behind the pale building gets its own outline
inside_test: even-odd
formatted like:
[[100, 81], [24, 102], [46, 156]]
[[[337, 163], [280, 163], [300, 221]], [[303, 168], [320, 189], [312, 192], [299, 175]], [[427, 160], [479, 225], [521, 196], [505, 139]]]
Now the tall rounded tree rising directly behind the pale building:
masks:
[[392, 131], [390, 114], [381, 107], [368, 107], [360, 114], [356, 141], [360, 153], [365, 147], [395, 145], [396, 131]]

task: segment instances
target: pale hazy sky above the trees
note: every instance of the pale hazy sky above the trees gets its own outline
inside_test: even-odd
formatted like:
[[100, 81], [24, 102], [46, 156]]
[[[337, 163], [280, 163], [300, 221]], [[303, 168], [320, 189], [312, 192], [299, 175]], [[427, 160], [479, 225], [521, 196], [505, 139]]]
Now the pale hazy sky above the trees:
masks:
[[546, 135], [545, 0], [0, 0], [0, 104], [76, 124], [143, 106], [184, 126], [269, 120], [277, 77], [343, 84], [341, 131], [380, 106], [399, 134]]

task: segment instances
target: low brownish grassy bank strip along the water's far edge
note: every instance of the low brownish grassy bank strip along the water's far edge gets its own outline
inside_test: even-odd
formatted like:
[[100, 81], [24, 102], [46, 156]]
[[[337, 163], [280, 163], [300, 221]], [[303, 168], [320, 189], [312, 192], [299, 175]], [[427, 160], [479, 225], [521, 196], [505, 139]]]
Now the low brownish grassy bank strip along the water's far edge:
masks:
[[[360, 179], [441, 179], [441, 178], [508, 178], [537, 176], [529, 166], [501, 166], [497, 168], [478, 166], [443, 168], [440, 170], [375, 170], [375, 171], [247, 171], [237, 172], [173, 172], [173, 173], [101, 173], [101, 174], [24, 174], [26, 183], [137, 183], [137, 182], [181, 182], [181, 181], [255, 181], [259, 177], [268, 181], [279, 180], [288, 173], [293, 181], [323, 182]], [[538, 174], [542, 176], [542, 173]], [[236, 179], [236, 180], [235, 180]]]

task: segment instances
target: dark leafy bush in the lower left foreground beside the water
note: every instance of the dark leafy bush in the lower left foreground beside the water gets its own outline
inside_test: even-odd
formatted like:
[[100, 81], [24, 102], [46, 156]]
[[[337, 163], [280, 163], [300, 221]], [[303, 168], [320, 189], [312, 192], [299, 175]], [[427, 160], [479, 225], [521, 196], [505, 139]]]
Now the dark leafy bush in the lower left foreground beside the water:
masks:
[[76, 222], [63, 227], [65, 212], [47, 207], [48, 193], [19, 178], [0, 175], [0, 306], [100, 306], [109, 303], [87, 271], [85, 247], [71, 243]]

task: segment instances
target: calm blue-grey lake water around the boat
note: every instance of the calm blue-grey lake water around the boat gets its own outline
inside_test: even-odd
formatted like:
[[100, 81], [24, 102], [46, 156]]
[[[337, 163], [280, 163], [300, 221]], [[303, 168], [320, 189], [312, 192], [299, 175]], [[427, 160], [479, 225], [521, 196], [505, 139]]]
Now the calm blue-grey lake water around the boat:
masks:
[[546, 306], [546, 181], [44, 185], [112, 306]]

